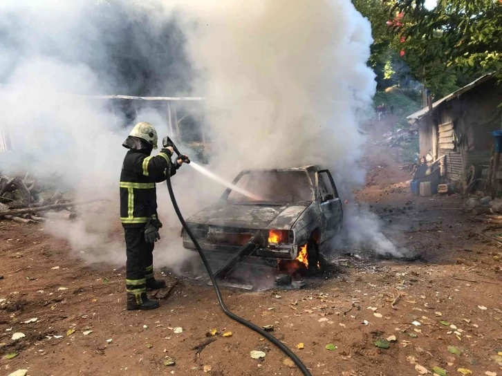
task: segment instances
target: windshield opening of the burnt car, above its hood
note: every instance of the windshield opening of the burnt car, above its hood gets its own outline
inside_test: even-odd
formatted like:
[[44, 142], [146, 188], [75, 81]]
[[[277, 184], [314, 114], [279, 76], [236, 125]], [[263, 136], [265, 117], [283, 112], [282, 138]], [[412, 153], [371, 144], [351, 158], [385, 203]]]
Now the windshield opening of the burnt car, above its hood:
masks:
[[230, 191], [228, 201], [232, 203], [297, 203], [312, 200], [310, 182], [303, 171], [251, 171], [241, 176], [235, 185], [259, 196], [261, 200]]

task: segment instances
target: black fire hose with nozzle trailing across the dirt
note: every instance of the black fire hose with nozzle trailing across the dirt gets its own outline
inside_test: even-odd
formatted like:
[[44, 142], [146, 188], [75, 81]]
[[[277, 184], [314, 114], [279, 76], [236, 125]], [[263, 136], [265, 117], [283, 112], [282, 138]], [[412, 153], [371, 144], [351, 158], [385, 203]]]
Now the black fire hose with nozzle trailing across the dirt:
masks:
[[[167, 137], [164, 138], [164, 140], [162, 140], [162, 144], [164, 145], [164, 147], [168, 147], [168, 146], [172, 147], [174, 149], [174, 151], [176, 152], [176, 154], [178, 155], [178, 158], [181, 158], [182, 160], [184, 160], [184, 162], [186, 162], [186, 163], [190, 162], [190, 160], [185, 155], [181, 154], [178, 151], [178, 149], [176, 148], [174, 143], [171, 141], [171, 139], [169, 139]], [[239, 317], [238, 315], [234, 314], [234, 312], [231, 312], [227, 308], [227, 306], [225, 306], [225, 302], [223, 301], [223, 297], [221, 296], [220, 288], [218, 287], [218, 283], [216, 283], [216, 278], [214, 278], [214, 274], [211, 270], [211, 266], [210, 266], [209, 262], [207, 261], [207, 258], [201, 248], [201, 245], [198, 244], [198, 241], [195, 238], [194, 234], [192, 233], [192, 230], [190, 230], [187, 223], [185, 222], [185, 218], [183, 218], [183, 215], [180, 212], [180, 208], [178, 207], [178, 203], [176, 203], [176, 197], [174, 196], [173, 186], [171, 185], [171, 163], [168, 163], [167, 173], [166, 173], [166, 182], [167, 182], [167, 189], [169, 190], [169, 196], [171, 197], [171, 202], [174, 207], [174, 211], [176, 212], [176, 215], [178, 216], [178, 219], [180, 220], [181, 225], [185, 229], [185, 232], [187, 232], [187, 235], [190, 237], [190, 239], [192, 239], [192, 242], [194, 242], [194, 245], [197, 249], [199, 256], [201, 256], [202, 262], [207, 270], [207, 274], [209, 274], [209, 276], [210, 276], [212, 285], [214, 287], [214, 291], [216, 292], [216, 298], [218, 299], [218, 302], [221, 306], [221, 310], [223, 310], [223, 312], [228, 317], [230, 317], [230, 319], [237, 321], [238, 323], [241, 323], [243, 326], [247, 326], [251, 330], [254, 330], [255, 332], [259, 333], [259, 335], [268, 339], [270, 342], [272, 342], [272, 344], [275, 344], [275, 346], [277, 346], [279, 348], [279, 350], [281, 350], [284, 354], [286, 354], [288, 357], [290, 357], [290, 359], [293, 362], [295, 362], [295, 364], [297, 365], [299, 370], [301, 370], [301, 373], [303, 373], [305, 376], [311, 376], [310, 371], [307, 369], [305, 364], [299, 359], [299, 357], [297, 357], [297, 355], [295, 355], [295, 353], [292, 352], [292, 350], [290, 348], [288, 348], [288, 346], [283, 344], [281, 341], [279, 341], [279, 339], [277, 339], [276, 337], [271, 335], [269, 332], [266, 332], [266, 330], [263, 330], [262, 328], [255, 325], [254, 323], [252, 323], [246, 319], [243, 319], [242, 317]]]

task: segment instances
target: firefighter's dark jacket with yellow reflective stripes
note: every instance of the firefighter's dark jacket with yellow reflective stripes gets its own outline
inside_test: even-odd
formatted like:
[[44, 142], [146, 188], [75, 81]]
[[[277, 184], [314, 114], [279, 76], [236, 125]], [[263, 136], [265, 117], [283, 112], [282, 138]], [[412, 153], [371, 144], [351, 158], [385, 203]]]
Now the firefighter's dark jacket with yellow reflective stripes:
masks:
[[129, 149], [120, 173], [120, 220], [124, 227], [145, 226], [149, 218], [157, 218], [156, 182], [166, 179], [171, 163], [171, 176], [179, 165], [172, 163], [168, 151], [162, 149], [157, 156], [149, 151]]

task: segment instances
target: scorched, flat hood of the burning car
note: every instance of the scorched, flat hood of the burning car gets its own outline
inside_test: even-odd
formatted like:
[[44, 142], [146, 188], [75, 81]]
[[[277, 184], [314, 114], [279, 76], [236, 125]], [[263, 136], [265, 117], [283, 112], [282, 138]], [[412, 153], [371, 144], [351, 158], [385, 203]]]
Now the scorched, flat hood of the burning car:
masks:
[[291, 229], [310, 202], [273, 205], [218, 203], [187, 219], [187, 223], [247, 229]]

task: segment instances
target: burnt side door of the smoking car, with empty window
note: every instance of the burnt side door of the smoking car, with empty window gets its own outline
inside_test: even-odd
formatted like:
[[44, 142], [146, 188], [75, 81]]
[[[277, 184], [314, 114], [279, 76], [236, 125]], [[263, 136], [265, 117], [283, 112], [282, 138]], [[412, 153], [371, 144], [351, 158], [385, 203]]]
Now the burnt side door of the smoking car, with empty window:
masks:
[[317, 202], [321, 209], [321, 241], [333, 237], [342, 227], [342, 201], [328, 170], [317, 171]]

